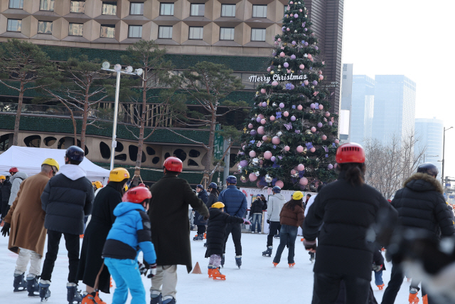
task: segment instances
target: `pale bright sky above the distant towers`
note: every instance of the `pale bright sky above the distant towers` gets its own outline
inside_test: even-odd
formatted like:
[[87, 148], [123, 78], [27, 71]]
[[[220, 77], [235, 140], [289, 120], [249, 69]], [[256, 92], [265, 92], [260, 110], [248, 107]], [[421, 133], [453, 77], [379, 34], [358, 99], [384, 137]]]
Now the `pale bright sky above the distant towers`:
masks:
[[455, 177], [455, 1], [345, 0], [343, 63], [354, 75], [406, 75], [417, 83], [416, 118], [446, 128], [445, 172]]

